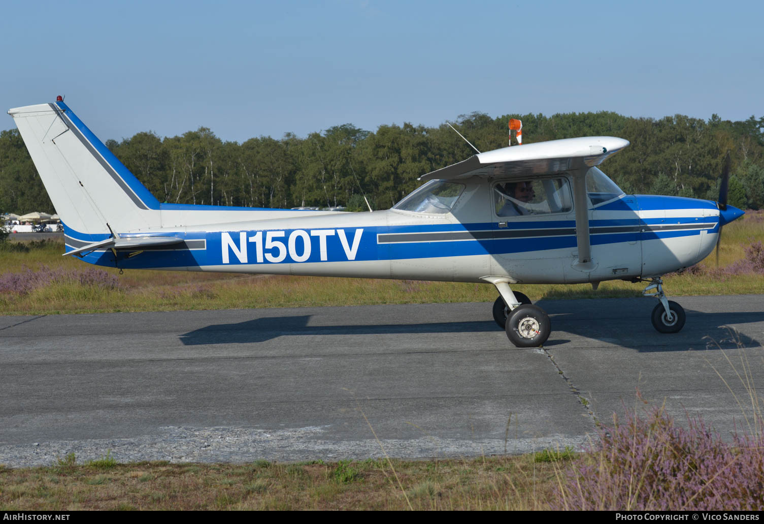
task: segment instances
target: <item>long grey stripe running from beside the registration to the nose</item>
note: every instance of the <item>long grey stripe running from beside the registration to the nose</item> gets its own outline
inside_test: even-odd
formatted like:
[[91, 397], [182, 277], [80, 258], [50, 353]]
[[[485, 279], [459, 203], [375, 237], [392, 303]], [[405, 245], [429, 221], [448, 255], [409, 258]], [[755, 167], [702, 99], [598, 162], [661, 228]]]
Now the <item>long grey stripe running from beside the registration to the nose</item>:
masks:
[[[642, 226], [592, 227], [591, 235], [613, 233], [643, 233], [646, 231], [673, 231], [681, 229], [711, 229], [715, 223], [652, 224]], [[520, 239], [532, 236], [575, 236], [575, 227], [561, 229], [494, 229], [490, 231], [445, 231], [443, 233], [387, 233], [377, 235], [377, 243], [446, 242], [455, 240]]]

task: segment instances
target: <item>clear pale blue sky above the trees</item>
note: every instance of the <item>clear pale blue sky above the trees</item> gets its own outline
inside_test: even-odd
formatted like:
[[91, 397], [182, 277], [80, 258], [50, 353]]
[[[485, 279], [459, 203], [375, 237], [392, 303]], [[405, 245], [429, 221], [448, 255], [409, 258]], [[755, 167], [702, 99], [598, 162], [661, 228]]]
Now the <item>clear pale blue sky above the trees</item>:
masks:
[[764, 116], [762, 20], [753, 0], [4, 0], [0, 103], [66, 96], [104, 142], [437, 126], [475, 111], [741, 120]]

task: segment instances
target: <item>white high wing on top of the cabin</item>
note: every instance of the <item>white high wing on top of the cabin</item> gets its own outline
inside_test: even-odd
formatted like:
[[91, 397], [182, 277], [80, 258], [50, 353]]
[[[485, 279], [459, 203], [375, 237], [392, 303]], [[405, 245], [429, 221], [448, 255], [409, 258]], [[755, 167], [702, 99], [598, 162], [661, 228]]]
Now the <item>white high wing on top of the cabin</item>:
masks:
[[610, 155], [629, 145], [628, 140], [613, 136], [563, 138], [535, 144], [487, 151], [473, 155], [458, 164], [432, 171], [419, 177], [420, 181], [457, 180], [468, 177], [507, 177], [542, 175], [592, 168]]

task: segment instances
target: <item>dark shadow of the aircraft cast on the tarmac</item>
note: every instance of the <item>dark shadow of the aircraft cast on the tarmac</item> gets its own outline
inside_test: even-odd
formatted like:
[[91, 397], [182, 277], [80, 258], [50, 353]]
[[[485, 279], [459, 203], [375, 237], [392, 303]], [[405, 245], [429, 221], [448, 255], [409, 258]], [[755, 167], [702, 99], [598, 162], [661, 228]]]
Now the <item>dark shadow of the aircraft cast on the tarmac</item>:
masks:
[[[687, 324], [677, 334], [659, 334], [652, 328], [649, 317], [631, 314], [629, 317], [582, 319], [575, 313], [552, 313], [552, 336], [545, 347], [589, 347], [586, 340], [599, 340], [640, 352], [704, 350], [729, 347], [759, 347], [758, 340], [749, 337], [744, 328], [730, 330], [729, 324], [764, 322], [764, 312], [703, 313], [686, 310]], [[612, 312], [610, 312], [612, 316]], [[180, 335], [186, 346], [229, 343], [261, 343], [282, 336], [331, 336], [429, 333], [496, 333], [493, 321], [429, 322], [419, 324], [358, 324], [309, 326], [311, 315], [263, 317], [235, 324], [212, 324]], [[578, 340], [573, 342], [565, 335]], [[583, 339], [583, 340], [582, 340]], [[508, 340], [502, 340], [507, 343]], [[501, 349], [501, 348], [497, 348]]]

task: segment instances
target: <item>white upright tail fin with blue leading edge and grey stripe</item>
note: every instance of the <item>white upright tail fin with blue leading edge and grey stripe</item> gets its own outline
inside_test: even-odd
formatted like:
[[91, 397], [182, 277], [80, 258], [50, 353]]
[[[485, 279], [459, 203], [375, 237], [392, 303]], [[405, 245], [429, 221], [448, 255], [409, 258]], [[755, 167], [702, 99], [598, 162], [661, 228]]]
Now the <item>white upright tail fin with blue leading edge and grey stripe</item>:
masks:
[[[53, 207], [80, 238], [160, 225], [158, 200], [59, 100], [8, 110]], [[108, 225], [107, 225], [108, 224]]]

